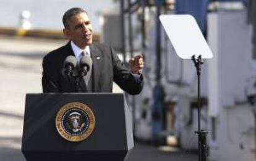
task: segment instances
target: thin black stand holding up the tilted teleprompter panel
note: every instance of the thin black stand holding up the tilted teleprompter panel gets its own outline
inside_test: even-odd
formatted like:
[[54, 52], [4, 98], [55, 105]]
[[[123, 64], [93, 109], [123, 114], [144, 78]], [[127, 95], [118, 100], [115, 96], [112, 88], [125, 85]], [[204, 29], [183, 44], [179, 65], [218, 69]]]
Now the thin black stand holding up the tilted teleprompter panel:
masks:
[[206, 144], [206, 138], [207, 138], [207, 131], [201, 130], [200, 127], [200, 116], [201, 116], [201, 99], [200, 99], [200, 74], [201, 74], [201, 67], [203, 64], [202, 56], [198, 56], [197, 59], [195, 58], [195, 55], [192, 56], [192, 60], [194, 62], [195, 68], [197, 70], [197, 79], [198, 79], [198, 131], [195, 131], [195, 133], [198, 134], [198, 161], [207, 161], [207, 144]]

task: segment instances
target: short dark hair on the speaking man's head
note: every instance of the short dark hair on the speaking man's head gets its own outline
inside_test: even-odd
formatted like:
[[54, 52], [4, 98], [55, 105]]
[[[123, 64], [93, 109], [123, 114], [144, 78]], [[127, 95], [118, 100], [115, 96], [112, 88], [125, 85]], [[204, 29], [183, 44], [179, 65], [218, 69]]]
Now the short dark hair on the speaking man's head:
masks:
[[72, 16], [80, 14], [80, 13], [85, 13], [87, 14], [86, 10], [81, 9], [79, 7], [74, 7], [72, 9], [69, 9], [65, 12], [65, 14], [62, 17], [62, 23], [65, 28], [69, 28], [69, 22]]

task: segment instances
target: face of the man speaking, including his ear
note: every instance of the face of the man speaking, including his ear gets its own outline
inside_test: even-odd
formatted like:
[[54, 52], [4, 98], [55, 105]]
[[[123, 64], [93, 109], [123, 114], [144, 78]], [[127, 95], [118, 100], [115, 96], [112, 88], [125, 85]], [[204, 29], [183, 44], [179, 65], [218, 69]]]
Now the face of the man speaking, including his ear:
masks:
[[63, 32], [81, 49], [85, 49], [85, 46], [92, 44], [92, 24], [86, 13], [72, 16], [69, 27], [64, 28]]

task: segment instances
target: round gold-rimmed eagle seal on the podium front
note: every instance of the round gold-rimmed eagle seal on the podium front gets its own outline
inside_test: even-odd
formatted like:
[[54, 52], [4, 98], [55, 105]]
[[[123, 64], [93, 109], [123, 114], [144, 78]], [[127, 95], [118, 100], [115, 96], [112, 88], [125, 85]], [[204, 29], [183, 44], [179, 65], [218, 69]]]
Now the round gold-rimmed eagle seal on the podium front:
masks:
[[95, 127], [92, 110], [80, 102], [70, 102], [61, 107], [55, 125], [62, 138], [77, 142], [86, 139]]

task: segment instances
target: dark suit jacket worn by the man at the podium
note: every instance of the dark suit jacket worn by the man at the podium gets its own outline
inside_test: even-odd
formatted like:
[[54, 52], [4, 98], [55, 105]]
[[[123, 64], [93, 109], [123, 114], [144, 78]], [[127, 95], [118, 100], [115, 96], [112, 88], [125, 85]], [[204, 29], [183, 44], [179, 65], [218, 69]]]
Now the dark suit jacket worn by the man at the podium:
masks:
[[[139, 94], [143, 77], [135, 78], [116, 56], [113, 49], [100, 43], [90, 45], [93, 60], [92, 92], [111, 93], [113, 81], [129, 94]], [[75, 85], [62, 72], [64, 60], [74, 56], [70, 41], [65, 46], [49, 52], [43, 59], [43, 93], [75, 93]], [[80, 86], [84, 86], [82, 81]], [[79, 92], [86, 92], [81, 88]]]

